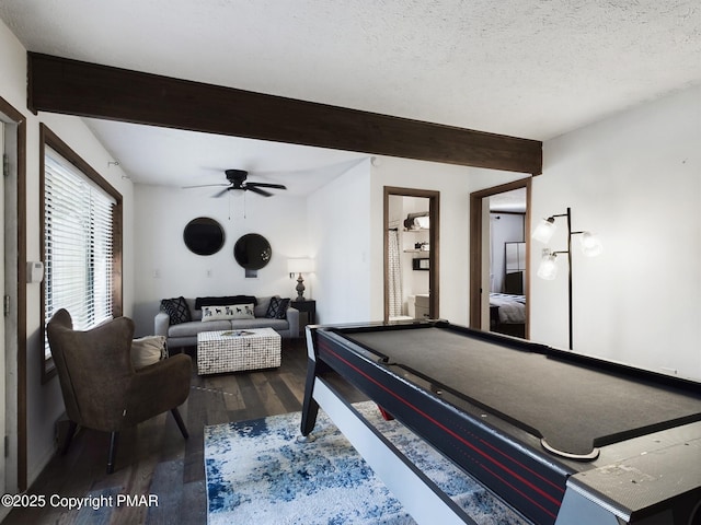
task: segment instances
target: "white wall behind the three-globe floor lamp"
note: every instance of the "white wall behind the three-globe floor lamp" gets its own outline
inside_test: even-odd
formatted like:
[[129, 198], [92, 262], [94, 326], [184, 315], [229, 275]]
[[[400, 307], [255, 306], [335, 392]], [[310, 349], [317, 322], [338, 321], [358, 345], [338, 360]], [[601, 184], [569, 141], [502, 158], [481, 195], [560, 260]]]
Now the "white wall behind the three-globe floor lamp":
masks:
[[[701, 86], [544, 144], [533, 220], [571, 207], [573, 230], [604, 242], [597, 258], [573, 250], [575, 351], [701, 380], [700, 144]], [[560, 262], [556, 280], [531, 279], [531, 337], [566, 348]]]

